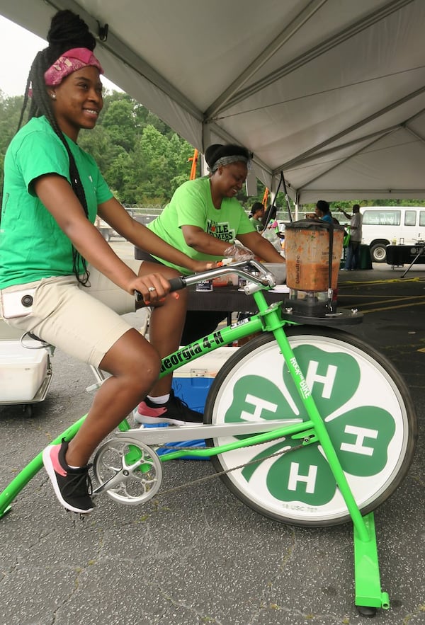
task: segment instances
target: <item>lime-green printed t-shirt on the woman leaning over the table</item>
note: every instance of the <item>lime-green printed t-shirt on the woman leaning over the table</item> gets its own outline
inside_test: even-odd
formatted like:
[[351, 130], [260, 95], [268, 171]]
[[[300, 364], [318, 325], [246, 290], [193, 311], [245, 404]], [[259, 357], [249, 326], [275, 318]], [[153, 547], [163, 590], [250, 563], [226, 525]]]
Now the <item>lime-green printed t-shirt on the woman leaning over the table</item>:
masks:
[[[203, 231], [226, 241], [231, 246], [238, 234], [254, 232], [248, 216], [235, 197], [225, 197], [220, 210], [212, 204], [210, 179], [196, 178], [183, 183], [171, 197], [162, 213], [148, 224], [161, 239], [187, 254], [194, 260], [219, 260], [222, 256], [208, 256], [189, 247], [184, 239], [182, 226], [197, 226]], [[157, 258], [157, 257], [155, 257]], [[165, 265], [188, 275], [188, 269], [173, 265], [159, 258]]]

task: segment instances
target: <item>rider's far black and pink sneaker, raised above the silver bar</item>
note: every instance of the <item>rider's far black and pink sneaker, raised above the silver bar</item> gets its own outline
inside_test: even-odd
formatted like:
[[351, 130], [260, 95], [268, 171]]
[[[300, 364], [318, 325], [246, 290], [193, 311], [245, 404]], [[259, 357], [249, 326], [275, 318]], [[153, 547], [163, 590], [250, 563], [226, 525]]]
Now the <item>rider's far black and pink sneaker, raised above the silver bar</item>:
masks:
[[134, 411], [136, 423], [154, 425], [155, 423], [169, 423], [169, 425], [202, 425], [203, 414], [189, 408], [186, 401], [174, 395], [171, 389], [169, 401], [153, 403], [149, 397], [142, 401]]

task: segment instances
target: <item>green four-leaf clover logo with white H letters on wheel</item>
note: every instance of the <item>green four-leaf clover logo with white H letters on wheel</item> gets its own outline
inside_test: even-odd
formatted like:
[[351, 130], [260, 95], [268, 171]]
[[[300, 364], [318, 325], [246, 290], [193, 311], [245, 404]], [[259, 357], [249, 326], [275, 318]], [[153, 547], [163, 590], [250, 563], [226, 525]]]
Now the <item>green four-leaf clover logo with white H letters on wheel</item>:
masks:
[[[379, 474], [387, 464], [388, 447], [396, 430], [391, 413], [378, 405], [379, 389], [376, 389], [375, 403], [361, 404], [361, 394], [357, 397], [356, 391], [361, 384], [362, 371], [352, 352], [327, 352], [314, 345], [298, 345], [293, 351], [319, 413], [327, 423], [329, 437], [346, 475], [363, 478]], [[242, 374], [234, 384], [225, 423], [259, 418], [307, 421], [307, 413], [286, 365], [283, 383], [284, 389], [260, 375]], [[251, 447], [250, 459], [265, 459], [299, 444], [299, 440], [288, 437], [262, 445], [260, 452]], [[276, 500], [317, 507], [334, 498], [335, 478], [317, 443], [269, 459], [267, 463], [266, 488]], [[256, 471], [264, 471], [261, 466], [261, 462], [245, 466], [242, 476], [247, 482], [253, 480]]]

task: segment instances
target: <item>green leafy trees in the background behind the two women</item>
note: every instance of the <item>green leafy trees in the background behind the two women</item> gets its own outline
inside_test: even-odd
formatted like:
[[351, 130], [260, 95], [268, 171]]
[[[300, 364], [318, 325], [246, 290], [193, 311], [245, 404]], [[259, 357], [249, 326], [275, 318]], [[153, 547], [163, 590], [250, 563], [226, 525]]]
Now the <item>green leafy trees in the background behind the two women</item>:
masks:
[[[0, 185], [4, 155], [17, 130], [22, 104], [23, 96], [8, 98], [0, 91]], [[96, 127], [80, 132], [79, 145], [94, 156], [106, 182], [124, 203], [164, 205], [191, 173], [188, 161], [193, 156], [191, 144], [145, 106], [119, 91], [104, 93], [103, 110]], [[263, 200], [264, 185], [259, 182], [257, 188], [255, 197], [246, 197], [244, 189], [238, 193], [237, 199], [246, 209]], [[282, 192], [278, 193], [275, 203], [286, 211]], [[336, 212], [337, 207], [342, 207], [351, 212], [356, 203], [363, 206], [425, 205], [418, 200], [352, 200], [332, 202], [331, 210]], [[307, 205], [309, 212], [313, 209], [314, 205]]]

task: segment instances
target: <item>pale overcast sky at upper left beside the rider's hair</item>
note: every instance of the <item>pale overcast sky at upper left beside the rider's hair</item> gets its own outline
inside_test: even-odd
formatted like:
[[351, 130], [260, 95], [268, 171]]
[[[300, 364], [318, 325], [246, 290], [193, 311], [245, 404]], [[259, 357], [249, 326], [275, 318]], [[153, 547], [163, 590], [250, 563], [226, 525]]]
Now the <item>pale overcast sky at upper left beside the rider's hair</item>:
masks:
[[[48, 26], [46, 24], [46, 33]], [[0, 15], [0, 89], [5, 96], [23, 96], [31, 63], [37, 52], [46, 45], [47, 42], [37, 35]], [[8, 62], [11, 50], [13, 63]], [[106, 88], [118, 91], [118, 87], [106, 78], [102, 77], [102, 82]]]

